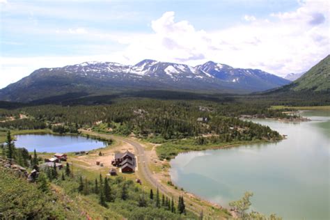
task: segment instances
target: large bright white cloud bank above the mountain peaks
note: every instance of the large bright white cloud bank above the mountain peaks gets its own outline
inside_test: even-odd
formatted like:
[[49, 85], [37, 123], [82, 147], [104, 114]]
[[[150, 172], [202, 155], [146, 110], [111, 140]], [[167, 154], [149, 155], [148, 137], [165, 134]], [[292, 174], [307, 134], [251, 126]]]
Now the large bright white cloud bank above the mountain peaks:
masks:
[[281, 76], [304, 72], [330, 52], [327, 8], [325, 1], [304, 1], [292, 12], [269, 19], [246, 15], [249, 23], [207, 32], [187, 21], [175, 22], [175, 13], [166, 12], [152, 21], [154, 33], [127, 38], [123, 54], [134, 62], [154, 58], [196, 65], [212, 60]]

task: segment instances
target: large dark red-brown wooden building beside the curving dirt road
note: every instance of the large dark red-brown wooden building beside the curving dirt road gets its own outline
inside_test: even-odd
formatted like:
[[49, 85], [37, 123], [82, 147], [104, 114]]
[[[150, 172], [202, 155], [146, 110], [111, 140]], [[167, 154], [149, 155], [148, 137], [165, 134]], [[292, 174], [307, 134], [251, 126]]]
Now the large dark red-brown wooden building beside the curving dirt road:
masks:
[[116, 153], [115, 158], [111, 161], [113, 166], [121, 168], [122, 173], [132, 173], [135, 171], [136, 159], [135, 155], [128, 150], [123, 153]]

